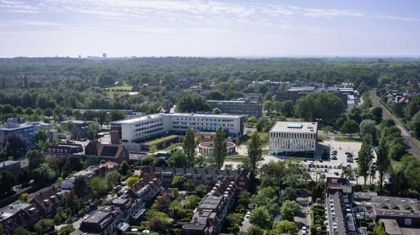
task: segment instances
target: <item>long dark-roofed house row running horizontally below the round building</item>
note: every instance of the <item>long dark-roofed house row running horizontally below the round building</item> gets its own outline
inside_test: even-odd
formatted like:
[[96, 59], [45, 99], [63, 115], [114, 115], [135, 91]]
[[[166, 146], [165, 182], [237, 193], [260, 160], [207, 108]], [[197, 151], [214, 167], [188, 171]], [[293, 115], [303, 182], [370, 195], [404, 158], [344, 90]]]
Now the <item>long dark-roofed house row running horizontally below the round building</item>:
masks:
[[206, 185], [208, 190], [228, 177], [232, 182], [237, 183], [239, 190], [246, 190], [248, 183], [248, 171], [238, 170], [218, 170], [218, 169], [190, 169], [175, 167], [155, 167], [149, 166], [148, 173], [153, 173], [156, 178], [160, 178], [164, 187], [172, 187], [172, 179], [175, 176], [183, 176], [194, 181], [195, 185]]

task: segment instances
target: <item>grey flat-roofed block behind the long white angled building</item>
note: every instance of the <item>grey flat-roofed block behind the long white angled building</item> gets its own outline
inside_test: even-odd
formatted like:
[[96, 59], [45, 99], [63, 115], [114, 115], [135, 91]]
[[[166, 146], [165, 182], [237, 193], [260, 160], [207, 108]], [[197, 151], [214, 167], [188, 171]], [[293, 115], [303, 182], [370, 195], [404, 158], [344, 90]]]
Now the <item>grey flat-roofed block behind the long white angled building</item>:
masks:
[[214, 101], [209, 100], [207, 104], [211, 108], [218, 108], [222, 113], [234, 115], [254, 116], [262, 115], [262, 104], [258, 101]]

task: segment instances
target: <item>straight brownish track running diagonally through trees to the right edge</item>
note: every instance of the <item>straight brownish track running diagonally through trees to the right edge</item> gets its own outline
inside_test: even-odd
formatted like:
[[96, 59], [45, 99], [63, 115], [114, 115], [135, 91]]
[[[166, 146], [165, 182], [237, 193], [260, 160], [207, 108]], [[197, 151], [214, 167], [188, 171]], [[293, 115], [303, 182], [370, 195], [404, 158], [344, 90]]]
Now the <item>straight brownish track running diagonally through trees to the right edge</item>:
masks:
[[411, 136], [411, 134], [409, 134], [409, 131], [407, 131], [407, 129], [405, 129], [405, 127], [400, 124], [397, 120], [397, 118], [395, 118], [389, 111], [388, 109], [386, 109], [381, 102], [379, 102], [376, 98], [376, 94], [375, 94], [375, 90], [370, 90], [369, 92], [369, 96], [370, 96], [370, 100], [372, 101], [372, 105], [374, 106], [379, 106], [382, 108], [382, 117], [384, 119], [390, 119], [393, 120], [395, 122], [395, 125], [401, 130], [401, 134], [402, 137], [405, 139], [406, 143], [409, 145], [409, 153], [411, 155], [416, 156], [417, 158], [420, 158], [420, 148], [419, 145], [417, 145], [414, 141], [413, 138]]

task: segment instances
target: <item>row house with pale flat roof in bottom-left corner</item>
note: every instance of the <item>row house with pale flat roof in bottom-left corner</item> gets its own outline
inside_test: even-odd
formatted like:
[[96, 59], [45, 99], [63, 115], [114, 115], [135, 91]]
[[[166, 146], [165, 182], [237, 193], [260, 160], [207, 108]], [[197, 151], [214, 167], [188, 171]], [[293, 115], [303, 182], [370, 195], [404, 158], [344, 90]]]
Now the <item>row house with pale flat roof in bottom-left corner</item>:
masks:
[[17, 227], [32, 227], [38, 220], [34, 204], [11, 204], [0, 209], [0, 225], [4, 234], [11, 235]]

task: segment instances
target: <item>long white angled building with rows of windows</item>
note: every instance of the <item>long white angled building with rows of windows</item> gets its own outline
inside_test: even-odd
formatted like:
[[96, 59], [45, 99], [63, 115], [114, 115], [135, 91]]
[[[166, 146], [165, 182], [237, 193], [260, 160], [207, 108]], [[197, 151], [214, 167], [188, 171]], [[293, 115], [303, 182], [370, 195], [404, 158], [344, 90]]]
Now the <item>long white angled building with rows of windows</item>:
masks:
[[120, 137], [128, 143], [137, 143], [165, 134], [185, 134], [189, 127], [193, 127], [195, 131], [214, 132], [218, 125], [223, 125], [229, 136], [242, 134], [239, 115], [159, 113], [111, 122], [111, 125], [120, 126]]

